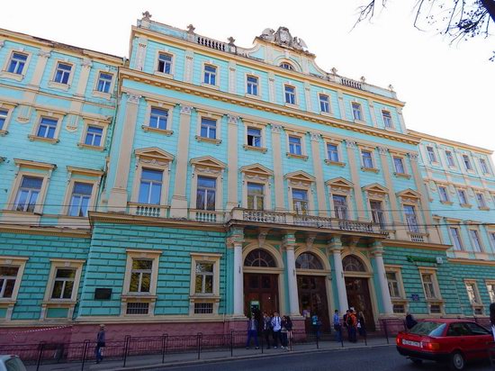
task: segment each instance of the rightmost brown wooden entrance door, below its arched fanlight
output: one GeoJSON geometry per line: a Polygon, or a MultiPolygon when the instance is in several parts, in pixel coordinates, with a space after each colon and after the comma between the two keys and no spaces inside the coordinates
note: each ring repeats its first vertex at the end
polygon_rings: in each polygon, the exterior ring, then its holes
{"type": "Polygon", "coordinates": [[[373,307],[370,299],[368,278],[346,277],[347,303],[356,314],[363,312],[366,330],[374,331],[373,307]]]}

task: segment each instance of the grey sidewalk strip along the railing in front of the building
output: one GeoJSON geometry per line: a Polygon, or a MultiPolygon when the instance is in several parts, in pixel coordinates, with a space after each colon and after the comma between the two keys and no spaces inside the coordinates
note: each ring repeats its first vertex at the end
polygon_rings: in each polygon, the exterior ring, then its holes
{"type": "MultiPolygon", "coordinates": [[[[390,345],[395,344],[395,338],[389,338],[390,345]]],[[[320,341],[319,348],[316,343],[301,343],[294,344],[293,350],[287,350],[282,348],[270,348],[270,349],[250,349],[246,348],[233,348],[232,354],[229,348],[220,349],[203,349],[198,359],[197,352],[180,352],[169,353],[165,355],[165,362],[162,363],[162,355],[147,355],[147,356],[130,356],[127,357],[126,366],[123,367],[123,359],[105,359],[101,364],[95,364],[94,358],[91,357],[85,363],[85,370],[105,370],[105,371],[117,371],[117,370],[143,370],[154,369],[157,367],[166,366],[181,366],[192,365],[197,363],[213,362],[218,360],[227,359],[239,359],[248,357],[277,357],[284,355],[287,352],[292,353],[312,353],[322,350],[338,350],[338,349],[350,349],[350,348],[374,348],[387,346],[387,340],[385,338],[371,338],[367,339],[367,345],[364,340],[360,340],[357,343],[350,343],[344,341],[344,347],[342,344],[336,341],[320,341]]],[[[28,371],[36,370],[36,365],[27,366],[28,371]]],[[[58,364],[46,364],[41,365],[42,371],[76,371],[82,369],[81,362],[71,363],[58,363],[58,364]]]]}

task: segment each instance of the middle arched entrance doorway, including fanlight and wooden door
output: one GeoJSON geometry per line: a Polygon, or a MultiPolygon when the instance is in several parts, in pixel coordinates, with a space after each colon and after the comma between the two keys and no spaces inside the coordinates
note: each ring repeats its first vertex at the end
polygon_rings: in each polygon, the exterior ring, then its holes
{"type": "Polygon", "coordinates": [[[330,329],[327,275],[321,259],[311,252],[302,252],[295,261],[299,310],[305,318],[306,331],[311,330],[311,317],[317,314],[321,330],[330,329]]]}

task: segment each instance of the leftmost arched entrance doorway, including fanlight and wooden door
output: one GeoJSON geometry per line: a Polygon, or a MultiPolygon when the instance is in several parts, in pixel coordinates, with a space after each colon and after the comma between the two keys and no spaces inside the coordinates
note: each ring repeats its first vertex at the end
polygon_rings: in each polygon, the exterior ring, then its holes
{"type": "Polygon", "coordinates": [[[266,249],[253,249],[244,259],[244,313],[251,314],[251,306],[259,305],[260,314],[280,312],[276,260],[266,249]]]}

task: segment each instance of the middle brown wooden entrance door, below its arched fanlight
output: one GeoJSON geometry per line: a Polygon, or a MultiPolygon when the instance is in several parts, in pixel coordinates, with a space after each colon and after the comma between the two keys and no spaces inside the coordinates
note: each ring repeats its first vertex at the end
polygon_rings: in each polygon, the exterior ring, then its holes
{"type": "Polygon", "coordinates": [[[306,316],[306,330],[311,330],[311,316],[318,314],[321,321],[321,330],[328,331],[329,302],[327,301],[327,286],[324,276],[297,276],[297,290],[299,294],[299,309],[306,316]]]}

